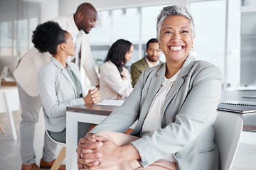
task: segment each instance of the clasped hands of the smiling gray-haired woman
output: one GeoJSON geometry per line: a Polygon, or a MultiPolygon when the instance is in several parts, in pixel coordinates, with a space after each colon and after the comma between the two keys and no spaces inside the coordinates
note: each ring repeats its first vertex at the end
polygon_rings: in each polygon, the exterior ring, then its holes
{"type": "Polygon", "coordinates": [[[119,164],[121,148],[105,137],[88,134],[78,142],[78,168],[95,170],[119,164]]]}

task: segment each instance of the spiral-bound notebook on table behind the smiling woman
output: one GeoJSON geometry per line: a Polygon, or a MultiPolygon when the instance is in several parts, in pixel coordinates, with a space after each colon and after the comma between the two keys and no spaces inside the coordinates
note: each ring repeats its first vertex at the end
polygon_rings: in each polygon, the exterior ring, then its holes
{"type": "Polygon", "coordinates": [[[230,111],[235,113],[254,113],[256,112],[255,102],[245,101],[226,101],[218,105],[218,111],[230,111]]]}

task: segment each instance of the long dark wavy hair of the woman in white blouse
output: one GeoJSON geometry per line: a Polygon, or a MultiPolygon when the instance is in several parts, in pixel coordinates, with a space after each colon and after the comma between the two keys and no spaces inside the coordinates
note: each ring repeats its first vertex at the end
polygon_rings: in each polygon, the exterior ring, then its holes
{"type": "Polygon", "coordinates": [[[125,59],[125,54],[129,52],[131,46],[132,42],[129,42],[128,40],[117,40],[116,42],[114,42],[114,44],[112,44],[110,50],[107,52],[105,62],[111,61],[121,73],[124,64],[127,62],[127,60],[125,59]]]}

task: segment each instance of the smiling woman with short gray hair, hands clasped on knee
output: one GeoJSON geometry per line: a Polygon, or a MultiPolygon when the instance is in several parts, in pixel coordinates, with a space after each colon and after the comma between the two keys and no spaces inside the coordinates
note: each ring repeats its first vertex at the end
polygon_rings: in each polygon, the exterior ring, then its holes
{"type": "Polygon", "coordinates": [[[79,169],[218,169],[220,69],[190,55],[195,30],[186,8],[163,8],[156,35],[166,63],[145,69],[122,106],[80,139],[79,169]],[[131,135],[119,133],[136,120],[131,135]]]}

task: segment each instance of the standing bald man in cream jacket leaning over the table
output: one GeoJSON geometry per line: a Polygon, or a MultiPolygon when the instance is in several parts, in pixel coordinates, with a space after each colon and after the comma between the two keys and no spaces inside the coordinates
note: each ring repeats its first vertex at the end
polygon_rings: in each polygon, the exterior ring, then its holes
{"type": "MultiPolygon", "coordinates": [[[[75,58],[70,58],[70,60],[75,60],[80,69],[81,67],[85,69],[92,86],[98,86],[99,84],[90,55],[89,35],[90,30],[95,27],[96,19],[97,11],[89,3],[80,4],[75,14],[53,19],[53,21],[59,23],[63,30],[72,35],[73,42],[76,45],[76,55],[75,58]]],[[[37,79],[39,70],[43,65],[50,62],[51,57],[49,53],[42,54],[33,47],[26,55],[21,57],[14,72],[22,109],[20,125],[22,170],[39,169],[36,165],[36,155],[33,149],[35,125],[38,122],[38,114],[42,106],[37,79]]],[[[55,142],[51,141],[45,133],[43,158],[40,162],[41,168],[46,169],[53,165],[56,147],[55,142]]],[[[60,166],[60,169],[65,169],[65,166],[60,166]]]]}

